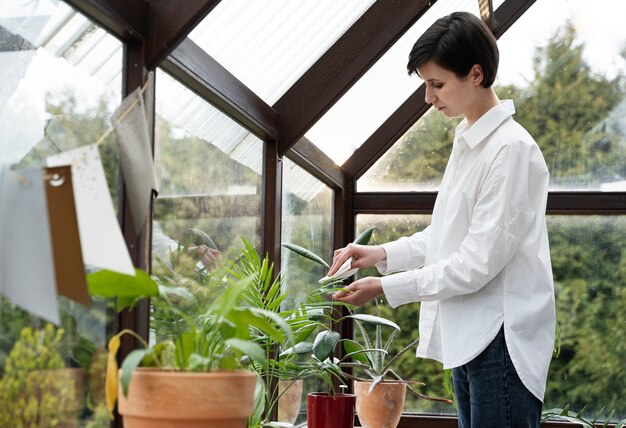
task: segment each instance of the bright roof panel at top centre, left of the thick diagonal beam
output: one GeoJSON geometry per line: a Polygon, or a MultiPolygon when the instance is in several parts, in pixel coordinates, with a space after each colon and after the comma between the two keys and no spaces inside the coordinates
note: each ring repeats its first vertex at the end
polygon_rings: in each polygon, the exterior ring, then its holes
{"type": "Polygon", "coordinates": [[[189,38],[271,105],[373,3],[223,1],[189,38]]]}

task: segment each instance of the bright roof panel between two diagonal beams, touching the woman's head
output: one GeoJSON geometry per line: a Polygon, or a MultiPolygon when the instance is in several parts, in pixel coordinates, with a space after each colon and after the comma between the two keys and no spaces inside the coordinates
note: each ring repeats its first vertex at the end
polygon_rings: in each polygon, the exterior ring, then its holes
{"type": "Polygon", "coordinates": [[[396,44],[306,133],[341,165],[420,85],[406,63],[418,37],[438,18],[465,10],[476,15],[476,0],[435,3],[396,44]]]}

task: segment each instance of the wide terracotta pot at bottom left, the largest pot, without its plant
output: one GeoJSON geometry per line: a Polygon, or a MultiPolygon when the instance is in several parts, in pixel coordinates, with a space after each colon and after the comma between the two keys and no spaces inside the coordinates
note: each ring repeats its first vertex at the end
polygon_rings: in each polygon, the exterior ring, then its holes
{"type": "Polygon", "coordinates": [[[256,373],[137,369],[128,397],[120,385],[125,428],[245,428],[254,410],[256,373]]]}

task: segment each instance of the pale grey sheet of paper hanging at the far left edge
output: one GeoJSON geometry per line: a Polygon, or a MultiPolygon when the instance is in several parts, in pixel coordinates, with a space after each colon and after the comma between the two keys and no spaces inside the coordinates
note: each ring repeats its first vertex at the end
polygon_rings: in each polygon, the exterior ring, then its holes
{"type": "Polygon", "coordinates": [[[59,324],[42,170],[4,167],[0,175],[0,290],[24,310],[59,324]]]}

